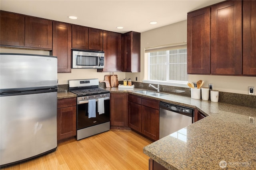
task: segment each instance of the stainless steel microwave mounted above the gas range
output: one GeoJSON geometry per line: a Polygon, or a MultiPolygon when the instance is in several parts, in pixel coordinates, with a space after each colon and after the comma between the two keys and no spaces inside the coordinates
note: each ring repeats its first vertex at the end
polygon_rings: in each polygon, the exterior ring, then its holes
{"type": "Polygon", "coordinates": [[[104,68],[104,51],[72,49],[72,68],[104,68]]]}

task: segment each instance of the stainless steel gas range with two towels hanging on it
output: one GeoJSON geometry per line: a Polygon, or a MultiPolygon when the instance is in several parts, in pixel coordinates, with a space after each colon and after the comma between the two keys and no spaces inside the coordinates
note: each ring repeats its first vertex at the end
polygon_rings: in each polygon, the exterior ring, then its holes
{"type": "Polygon", "coordinates": [[[99,80],[68,80],[68,86],[77,94],[76,139],[110,130],[110,92],[99,88],[99,80]]]}

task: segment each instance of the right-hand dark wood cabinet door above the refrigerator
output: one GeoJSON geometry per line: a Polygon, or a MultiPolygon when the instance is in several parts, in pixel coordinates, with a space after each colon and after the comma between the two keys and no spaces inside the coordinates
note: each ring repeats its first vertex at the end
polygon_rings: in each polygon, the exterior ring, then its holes
{"type": "Polygon", "coordinates": [[[25,47],[52,49],[52,21],[25,16],[25,47]]]}

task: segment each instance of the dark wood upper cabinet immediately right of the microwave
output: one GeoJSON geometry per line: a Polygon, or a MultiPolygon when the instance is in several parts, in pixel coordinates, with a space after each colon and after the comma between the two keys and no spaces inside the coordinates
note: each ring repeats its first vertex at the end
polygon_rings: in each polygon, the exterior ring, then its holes
{"type": "Polygon", "coordinates": [[[103,31],[103,51],[105,52],[105,66],[98,72],[121,71],[121,33],[103,31]]]}

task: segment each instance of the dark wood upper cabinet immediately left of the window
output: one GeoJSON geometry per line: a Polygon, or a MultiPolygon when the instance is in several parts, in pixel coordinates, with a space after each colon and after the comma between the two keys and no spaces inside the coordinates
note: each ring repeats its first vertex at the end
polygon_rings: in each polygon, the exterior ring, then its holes
{"type": "Polygon", "coordinates": [[[122,71],[140,72],[140,33],[122,34],[122,71]]]}

